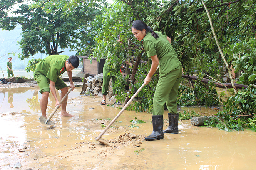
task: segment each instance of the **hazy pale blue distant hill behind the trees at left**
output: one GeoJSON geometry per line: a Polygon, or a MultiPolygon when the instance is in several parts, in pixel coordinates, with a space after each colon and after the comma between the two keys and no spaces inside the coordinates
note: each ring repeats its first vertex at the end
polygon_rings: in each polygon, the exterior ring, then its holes
{"type": "MultiPolygon", "coordinates": [[[[7,62],[8,62],[8,58],[12,57],[12,68],[13,70],[25,70],[25,68],[27,67],[27,63],[30,59],[32,58],[28,58],[25,59],[24,61],[20,61],[20,59],[18,58],[18,53],[21,53],[21,49],[20,46],[18,45],[18,41],[21,40],[21,26],[18,25],[14,30],[12,31],[3,31],[2,29],[0,29],[0,66],[3,69],[3,71],[7,70],[7,62]],[[15,55],[13,56],[11,55],[5,55],[8,53],[12,53],[14,52],[15,55]]],[[[62,54],[65,55],[74,55],[75,52],[74,51],[69,51],[69,49],[65,49],[65,52],[63,52],[62,54]]],[[[34,58],[44,58],[44,54],[36,54],[35,56],[33,56],[34,58]]],[[[47,57],[47,55],[45,55],[45,57],[47,57]]]]}

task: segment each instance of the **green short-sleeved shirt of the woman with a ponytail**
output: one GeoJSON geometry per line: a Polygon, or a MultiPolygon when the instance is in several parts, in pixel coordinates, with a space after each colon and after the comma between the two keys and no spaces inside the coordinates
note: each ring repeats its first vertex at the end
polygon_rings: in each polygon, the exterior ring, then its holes
{"type": "Polygon", "coordinates": [[[147,52],[147,56],[157,55],[159,60],[159,75],[165,75],[181,65],[176,52],[171,43],[167,40],[166,35],[161,32],[154,31],[158,34],[158,38],[154,38],[150,32],[146,34],[142,45],[147,52]]]}

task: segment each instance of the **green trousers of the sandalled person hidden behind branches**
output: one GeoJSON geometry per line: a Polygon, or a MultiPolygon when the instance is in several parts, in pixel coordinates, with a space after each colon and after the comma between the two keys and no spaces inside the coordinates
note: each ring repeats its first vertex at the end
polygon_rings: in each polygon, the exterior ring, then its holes
{"type": "MultiPolygon", "coordinates": [[[[115,76],[107,75],[111,71],[111,68],[108,68],[107,64],[104,64],[103,67],[103,83],[102,83],[102,94],[107,95],[108,94],[108,89],[109,89],[109,81],[110,78],[112,79],[112,85],[115,83],[116,78],[115,76]]],[[[118,72],[118,71],[117,71],[118,72]]],[[[115,91],[113,89],[113,94],[115,94],[115,91]]]]}

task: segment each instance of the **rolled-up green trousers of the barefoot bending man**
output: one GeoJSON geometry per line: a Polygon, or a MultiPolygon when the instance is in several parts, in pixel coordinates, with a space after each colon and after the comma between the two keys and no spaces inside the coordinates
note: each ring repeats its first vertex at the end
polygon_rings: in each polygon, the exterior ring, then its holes
{"type": "MultiPolygon", "coordinates": [[[[40,73],[37,69],[35,69],[35,72],[34,72],[34,79],[35,81],[37,81],[41,94],[47,91],[50,92],[50,87],[49,87],[50,79],[48,79],[44,74],[40,73]]],[[[55,82],[55,88],[57,90],[60,90],[65,87],[67,87],[67,84],[65,84],[64,81],[58,77],[55,82]]]]}

